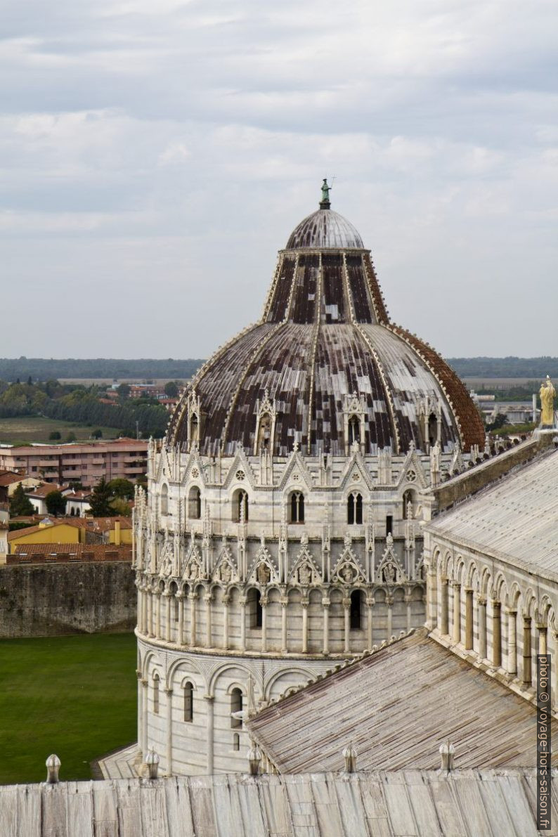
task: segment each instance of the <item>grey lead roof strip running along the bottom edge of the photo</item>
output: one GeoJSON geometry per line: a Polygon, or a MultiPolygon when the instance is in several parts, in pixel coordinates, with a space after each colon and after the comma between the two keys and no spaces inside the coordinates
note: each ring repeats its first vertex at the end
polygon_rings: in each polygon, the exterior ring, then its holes
{"type": "Polygon", "coordinates": [[[406,770],[4,785],[0,828],[3,837],[535,837],[535,781],[534,770],[406,770]]]}

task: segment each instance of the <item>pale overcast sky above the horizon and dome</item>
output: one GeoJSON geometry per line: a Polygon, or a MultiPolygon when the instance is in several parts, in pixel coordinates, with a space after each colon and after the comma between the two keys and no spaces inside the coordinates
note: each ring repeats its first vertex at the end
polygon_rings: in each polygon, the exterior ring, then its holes
{"type": "Polygon", "coordinates": [[[332,208],[446,357],[558,355],[558,4],[3,0],[3,357],[207,357],[332,208]]]}

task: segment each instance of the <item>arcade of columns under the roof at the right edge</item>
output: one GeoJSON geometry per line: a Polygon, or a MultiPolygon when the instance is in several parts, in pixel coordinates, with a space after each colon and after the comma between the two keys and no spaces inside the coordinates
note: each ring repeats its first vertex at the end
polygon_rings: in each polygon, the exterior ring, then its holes
{"type": "MultiPolygon", "coordinates": [[[[511,689],[535,695],[536,655],[553,650],[558,584],[513,564],[457,548],[426,528],[427,628],[454,652],[474,661],[511,689]]],[[[558,670],[552,672],[556,711],[558,670]]]]}

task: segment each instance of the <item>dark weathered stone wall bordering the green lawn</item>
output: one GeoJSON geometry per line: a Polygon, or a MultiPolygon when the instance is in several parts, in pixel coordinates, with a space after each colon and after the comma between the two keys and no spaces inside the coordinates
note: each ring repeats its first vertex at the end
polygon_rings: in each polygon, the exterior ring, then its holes
{"type": "Polygon", "coordinates": [[[131,631],[135,625],[128,562],[0,567],[0,638],[131,631]]]}

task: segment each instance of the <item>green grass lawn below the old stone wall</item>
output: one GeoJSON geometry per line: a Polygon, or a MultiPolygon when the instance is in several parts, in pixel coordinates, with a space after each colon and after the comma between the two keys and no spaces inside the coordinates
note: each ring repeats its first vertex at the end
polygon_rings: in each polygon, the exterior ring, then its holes
{"type": "Polygon", "coordinates": [[[0,783],[91,778],[90,762],[136,741],[136,637],[0,640],[0,783]]]}

